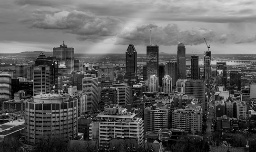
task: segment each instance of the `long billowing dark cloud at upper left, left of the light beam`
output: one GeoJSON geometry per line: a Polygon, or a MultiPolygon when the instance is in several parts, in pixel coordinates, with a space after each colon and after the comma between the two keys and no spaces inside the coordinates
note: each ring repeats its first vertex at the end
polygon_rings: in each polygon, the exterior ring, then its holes
{"type": "Polygon", "coordinates": [[[114,17],[97,17],[82,11],[35,11],[29,18],[20,20],[31,28],[59,29],[78,36],[79,40],[98,42],[116,36],[123,22],[114,17]]]}

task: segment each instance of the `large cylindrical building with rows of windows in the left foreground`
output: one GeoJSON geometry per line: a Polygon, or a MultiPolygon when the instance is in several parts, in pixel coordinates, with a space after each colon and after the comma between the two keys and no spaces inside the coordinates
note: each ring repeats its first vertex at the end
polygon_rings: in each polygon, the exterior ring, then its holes
{"type": "Polygon", "coordinates": [[[25,102],[25,140],[28,144],[37,144],[49,135],[67,142],[74,140],[78,137],[77,124],[78,101],[68,94],[41,94],[25,102]]]}

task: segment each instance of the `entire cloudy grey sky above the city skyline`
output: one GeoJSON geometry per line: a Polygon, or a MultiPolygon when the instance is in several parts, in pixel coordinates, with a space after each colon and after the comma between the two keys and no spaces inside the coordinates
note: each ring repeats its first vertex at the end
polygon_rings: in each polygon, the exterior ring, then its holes
{"type": "Polygon", "coordinates": [[[125,53],[133,44],[159,52],[255,54],[255,0],[0,0],[0,53],[125,53]]]}

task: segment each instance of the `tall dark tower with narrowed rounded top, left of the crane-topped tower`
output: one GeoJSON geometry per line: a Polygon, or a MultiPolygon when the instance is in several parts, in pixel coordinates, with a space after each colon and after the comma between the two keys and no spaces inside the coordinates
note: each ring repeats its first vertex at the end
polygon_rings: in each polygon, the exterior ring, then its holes
{"type": "Polygon", "coordinates": [[[177,49],[177,79],[187,79],[186,48],[183,43],[179,43],[177,49]]]}

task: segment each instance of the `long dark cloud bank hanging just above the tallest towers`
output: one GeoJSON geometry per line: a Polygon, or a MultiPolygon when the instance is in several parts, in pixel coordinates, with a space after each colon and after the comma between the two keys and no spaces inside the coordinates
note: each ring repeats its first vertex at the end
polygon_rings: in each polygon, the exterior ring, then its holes
{"type": "Polygon", "coordinates": [[[178,41],[184,45],[199,45],[207,41],[215,41],[215,32],[206,28],[193,28],[181,31],[176,24],[168,24],[166,27],[157,27],[148,24],[138,26],[132,30],[123,30],[117,35],[116,45],[149,45],[150,29],[152,29],[152,44],[157,45],[177,45],[178,41]],[[154,29],[152,29],[154,28],[154,29]]]}

